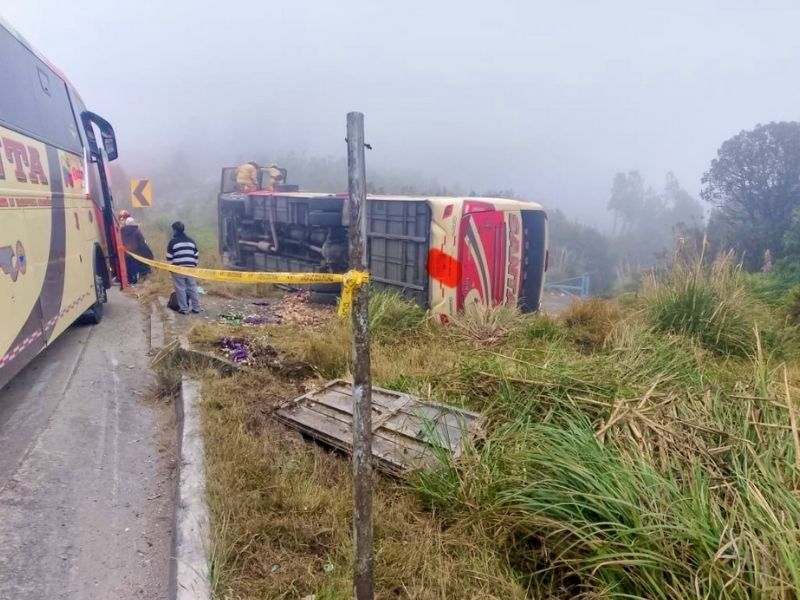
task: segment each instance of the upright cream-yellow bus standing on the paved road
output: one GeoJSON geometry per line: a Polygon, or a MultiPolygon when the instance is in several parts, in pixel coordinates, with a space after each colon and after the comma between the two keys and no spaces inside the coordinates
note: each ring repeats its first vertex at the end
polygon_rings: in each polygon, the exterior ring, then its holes
{"type": "Polygon", "coordinates": [[[76,319],[98,323],[124,267],[111,125],[2,20],[0,82],[2,388],[76,319]]]}

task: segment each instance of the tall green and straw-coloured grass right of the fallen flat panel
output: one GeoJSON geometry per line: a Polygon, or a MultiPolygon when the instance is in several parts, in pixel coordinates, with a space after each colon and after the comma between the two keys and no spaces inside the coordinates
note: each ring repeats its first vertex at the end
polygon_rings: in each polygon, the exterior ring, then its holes
{"type": "Polygon", "coordinates": [[[613,310],[462,356],[447,385],[486,439],[412,485],[489,535],[533,597],[798,597],[796,388],[777,360],[794,355],[775,352],[774,316],[730,257],[613,310]]]}

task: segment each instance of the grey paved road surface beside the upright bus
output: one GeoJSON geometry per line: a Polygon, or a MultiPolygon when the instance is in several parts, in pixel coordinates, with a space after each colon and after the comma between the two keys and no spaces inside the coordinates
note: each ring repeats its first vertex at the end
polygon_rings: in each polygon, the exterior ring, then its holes
{"type": "Polygon", "coordinates": [[[148,332],[112,293],[0,390],[0,600],[167,597],[174,432],[148,332]]]}

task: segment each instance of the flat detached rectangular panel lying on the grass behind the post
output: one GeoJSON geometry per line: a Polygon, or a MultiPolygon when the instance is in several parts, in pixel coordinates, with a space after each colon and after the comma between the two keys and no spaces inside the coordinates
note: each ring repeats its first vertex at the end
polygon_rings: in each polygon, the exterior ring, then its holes
{"type": "MultiPolygon", "coordinates": [[[[278,405],[275,418],[329,446],[347,452],[353,445],[353,386],[337,379],[321,390],[278,405]]],[[[458,459],[465,438],[482,433],[483,418],[454,406],[372,388],[372,454],[391,475],[435,467],[437,455],[458,459]]]]}

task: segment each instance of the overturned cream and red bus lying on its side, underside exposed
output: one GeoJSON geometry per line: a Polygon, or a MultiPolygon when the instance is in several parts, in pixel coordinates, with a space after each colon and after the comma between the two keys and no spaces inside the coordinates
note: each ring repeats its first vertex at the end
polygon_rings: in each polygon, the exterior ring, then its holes
{"type": "MultiPolygon", "coordinates": [[[[220,253],[236,269],[341,273],[348,268],[346,195],[236,191],[222,173],[220,253]]],[[[367,258],[373,285],[397,291],[442,321],[465,306],[535,311],[547,269],[547,216],[532,202],[501,198],[367,196],[367,258]]],[[[334,303],[338,284],[311,286],[334,303]]]]}

